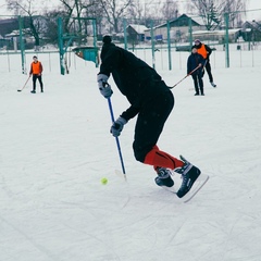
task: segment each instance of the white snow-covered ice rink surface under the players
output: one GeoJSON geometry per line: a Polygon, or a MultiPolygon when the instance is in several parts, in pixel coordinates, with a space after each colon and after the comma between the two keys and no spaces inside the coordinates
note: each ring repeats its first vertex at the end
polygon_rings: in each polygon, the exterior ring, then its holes
{"type": "MultiPolygon", "coordinates": [[[[175,70],[158,66],[169,85],[186,74],[188,53],[177,55],[175,70]]],[[[210,175],[183,203],[135,161],[135,120],[120,137],[127,182],[115,175],[121,163],[94,63],[72,57],[71,73],[61,76],[54,54],[38,57],[45,92],[37,85],[36,95],[30,80],[16,91],[28,77],[20,57],[10,58],[11,72],[0,57],[1,261],[260,261],[261,66],[225,69],[216,51],[217,88],[204,77],[206,96],[195,97],[188,77],[173,89],[175,108],[158,145],[210,175]]],[[[128,103],[110,83],[117,116],[128,103]]]]}

